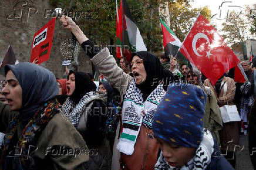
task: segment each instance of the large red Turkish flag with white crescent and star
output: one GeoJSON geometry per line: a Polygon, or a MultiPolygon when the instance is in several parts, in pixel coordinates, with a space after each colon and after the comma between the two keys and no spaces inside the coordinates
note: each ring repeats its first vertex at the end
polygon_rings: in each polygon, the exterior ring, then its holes
{"type": "Polygon", "coordinates": [[[214,84],[240,60],[224,42],[217,30],[200,15],[194,23],[180,52],[214,84]]]}

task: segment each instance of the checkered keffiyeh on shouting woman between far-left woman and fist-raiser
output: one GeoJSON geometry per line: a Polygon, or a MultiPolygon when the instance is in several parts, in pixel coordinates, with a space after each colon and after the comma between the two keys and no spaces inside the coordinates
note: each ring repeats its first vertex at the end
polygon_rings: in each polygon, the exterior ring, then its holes
{"type": "Polygon", "coordinates": [[[95,96],[97,96],[98,93],[96,91],[90,91],[85,94],[81,98],[78,104],[76,104],[74,101],[72,101],[70,98],[67,98],[65,103],[62,106],[62,113],[66,115],[66,117],[69,118],[70,122],[77,127],[79,124],[80,117],[82,115],[82,112],[86,106],[87,101],[91,100],[95,96]]]}

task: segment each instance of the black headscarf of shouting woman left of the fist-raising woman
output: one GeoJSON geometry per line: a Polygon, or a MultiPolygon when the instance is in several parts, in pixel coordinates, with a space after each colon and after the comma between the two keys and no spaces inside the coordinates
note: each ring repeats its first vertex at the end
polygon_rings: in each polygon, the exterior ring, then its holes
{"type": "Polygon", "coordinates": [[[69,98],[73,102],[79,103],[81,98],[85,96],[86,93],[96,90],[96,85],[90,79],[90,76],[88,74],[84,72],[75,72],[73,70],[70,70],[69,76],[72,73],[75,74],[76,88],[69,98]]]}

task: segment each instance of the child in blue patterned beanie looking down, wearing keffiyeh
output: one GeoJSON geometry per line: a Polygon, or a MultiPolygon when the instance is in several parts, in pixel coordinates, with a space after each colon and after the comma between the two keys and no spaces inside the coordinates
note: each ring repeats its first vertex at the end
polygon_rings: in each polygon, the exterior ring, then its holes
{"type": "Polygon", "coordinates": [[[155,169],[233,169],[203,128],[206,94],[192,84],[173,84],[153,118],[161,153],[155,169]]]}

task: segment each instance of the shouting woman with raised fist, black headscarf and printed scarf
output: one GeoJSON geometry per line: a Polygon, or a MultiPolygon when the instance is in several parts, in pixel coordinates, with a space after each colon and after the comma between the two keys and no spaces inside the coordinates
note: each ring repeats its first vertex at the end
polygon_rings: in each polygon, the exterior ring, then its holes
{"type": "Polygon", "coordinates": [[[153,169],[159,145],[153,137],[152,118],[166,93],[164,87],[174,80],[173,74],[164,70],[152,53],[136,52],[130,62],[131,77],[117,66],[109,49],[99,52],[71,18],[62,16],[60,22],[76,36],[95,67],[120,92],[123,101],[122,132],[117,129],[112,169],[153,169]]]}

